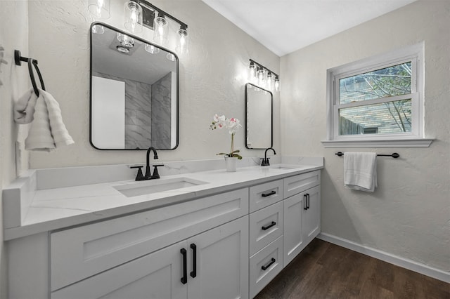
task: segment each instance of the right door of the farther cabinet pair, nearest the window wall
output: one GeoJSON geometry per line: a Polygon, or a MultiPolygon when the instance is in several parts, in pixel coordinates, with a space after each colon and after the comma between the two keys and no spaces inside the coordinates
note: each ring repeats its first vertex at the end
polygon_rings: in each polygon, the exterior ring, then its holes
{"type": "Polygon", "coordinates": [[[304,210],[305,244],[309,244],[321,231],[321,188],[316,186],[304,192],[307,196],[307,210],[304,210]]]}

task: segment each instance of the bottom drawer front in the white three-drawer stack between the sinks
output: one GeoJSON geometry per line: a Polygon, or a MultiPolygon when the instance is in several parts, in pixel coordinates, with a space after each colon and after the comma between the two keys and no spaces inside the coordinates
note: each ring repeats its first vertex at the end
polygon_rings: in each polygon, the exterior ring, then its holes
{"type": "Polygon", "coordinates": [[[278,237],[250,258],[250,298],[283,269],[283,236],[278,237]]]}

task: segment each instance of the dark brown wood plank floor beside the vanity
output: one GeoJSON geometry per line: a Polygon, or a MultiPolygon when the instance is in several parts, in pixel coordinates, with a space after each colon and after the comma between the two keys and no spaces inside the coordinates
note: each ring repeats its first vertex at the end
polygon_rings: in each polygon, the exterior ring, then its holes
{"type": "Polygon", "coordinates": [[[314,239],[256,299],[450,299],[450,284],[314,239]]]}

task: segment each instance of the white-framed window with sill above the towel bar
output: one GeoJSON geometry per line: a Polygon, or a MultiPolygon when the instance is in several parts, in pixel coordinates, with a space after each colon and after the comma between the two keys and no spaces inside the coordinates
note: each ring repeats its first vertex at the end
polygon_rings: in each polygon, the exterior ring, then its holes
{"type": "Polygon", "coordinates": [[[405,140],[425,140],[423,44],[328,69],[327,84],[325,146],[406,146],[405,140]]]}

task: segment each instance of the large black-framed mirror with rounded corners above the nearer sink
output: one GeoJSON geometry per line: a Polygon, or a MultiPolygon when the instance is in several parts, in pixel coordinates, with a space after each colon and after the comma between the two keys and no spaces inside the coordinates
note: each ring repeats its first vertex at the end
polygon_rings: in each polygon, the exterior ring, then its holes
{"type": "Polygon", "coordinates": [[[91,25],[91,145],[98,150],[174,150],[179,61],[148,41],[91,25]]]}

